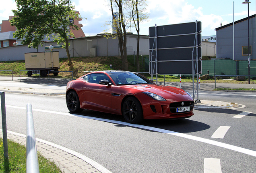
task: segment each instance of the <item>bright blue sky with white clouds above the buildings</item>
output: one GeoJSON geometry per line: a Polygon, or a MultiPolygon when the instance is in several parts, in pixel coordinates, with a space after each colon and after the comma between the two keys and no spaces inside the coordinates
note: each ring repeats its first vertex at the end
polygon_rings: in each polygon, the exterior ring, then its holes
{"type": "MultiPolygon", "coordinates": [[[[109,0],[71,0],[83,18],[85,36],[94,36],[110,28],[109,0]],[[87,18],[87,19],[86,19],[87,18]]],[[[216,35],[215,28],[248,17],[244,0],[146,0],[149,20],[140,23],[140,34],[149,35],[149,27],[201,21],[202,36],[216,35]],[[233,5],[234,4],[234,5],[233,5]],[[233,8],[234,6],[234,8],[233,8]],[[234,12],[233,12],[234,9],[234,12]]],[[[250,0],[249,15],[255,14],[256,0],[250,0]]],[[[0,0],[0,23],[17,9],[15,0],[0,0]]],[[[128,30],[130,32],[130,29],[128,30]]],[[[136,30],[132,29],[136,34],[136,30]]]]}

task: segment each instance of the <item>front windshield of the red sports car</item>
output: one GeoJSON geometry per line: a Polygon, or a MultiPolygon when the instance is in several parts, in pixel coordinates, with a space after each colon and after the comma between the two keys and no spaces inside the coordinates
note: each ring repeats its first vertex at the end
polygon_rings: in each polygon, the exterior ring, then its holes
{"type": "Polygon", "coordinates": [[[154,84],[149,79],[133,72],[109,72],[116,85],[154,84]]]}

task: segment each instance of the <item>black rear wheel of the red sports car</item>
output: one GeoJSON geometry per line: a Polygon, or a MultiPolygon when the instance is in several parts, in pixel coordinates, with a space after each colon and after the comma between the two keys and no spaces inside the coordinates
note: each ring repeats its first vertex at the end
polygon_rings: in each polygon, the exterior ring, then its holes
{"type": "Polygon", "coordinates": [[[79,98],[75,91],[70,91],[68,93],[66,103],[68,110],[72,113],[78,113],[83,111],[83,109],[80,108],[79,98]]]}

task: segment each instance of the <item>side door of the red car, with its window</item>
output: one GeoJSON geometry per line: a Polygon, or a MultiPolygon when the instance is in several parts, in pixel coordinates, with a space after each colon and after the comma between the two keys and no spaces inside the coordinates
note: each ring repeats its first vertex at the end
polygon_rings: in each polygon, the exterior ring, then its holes
{"type": "Polygon", "coordinates": [[[111,109],[111,86],[99,84],[102,79],[109,80],[102,73],[91,74],[89,82],[83,86],[83,94],[88,105],[111,109]]]}

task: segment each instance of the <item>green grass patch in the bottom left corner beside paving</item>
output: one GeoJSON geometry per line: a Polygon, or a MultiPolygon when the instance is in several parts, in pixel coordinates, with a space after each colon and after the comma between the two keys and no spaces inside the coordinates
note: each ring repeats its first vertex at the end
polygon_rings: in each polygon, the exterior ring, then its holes
{"type": "MultiPolygon", "coordinates": [[[[40,173],[61,173],[56,165],[43,157],[39,152],[38,163],[40,173]]],[[[8,140],[8,158],[10,173],[26,173],[26,147],[8,140]]],[[[4,147],[0,138],[0,172],[4,173],[4,147]]]]}

